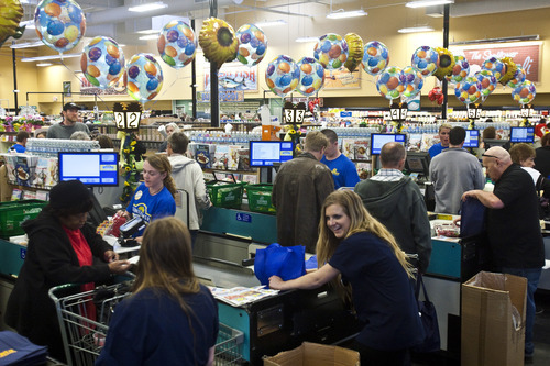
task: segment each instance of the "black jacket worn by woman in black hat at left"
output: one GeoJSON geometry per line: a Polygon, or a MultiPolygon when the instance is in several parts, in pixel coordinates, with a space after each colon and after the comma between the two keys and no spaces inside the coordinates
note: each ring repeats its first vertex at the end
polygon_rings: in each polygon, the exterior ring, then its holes
{"type": "Polygon", "coordinates": [[[22,225],[29,235],[25,262],[11,292],[6,323],[50,354],[65,359],[55,304],[48,290],[68,282],[94,282],[110,278],[109,266],[99,260],[110,246],[94,228],[81,229],[94,255],[95,265],[80,267],[78,257],[58,220],[44,209],[36,219],[22,225]],[[96,264],[97,262],[97,264],[96,264]]]}

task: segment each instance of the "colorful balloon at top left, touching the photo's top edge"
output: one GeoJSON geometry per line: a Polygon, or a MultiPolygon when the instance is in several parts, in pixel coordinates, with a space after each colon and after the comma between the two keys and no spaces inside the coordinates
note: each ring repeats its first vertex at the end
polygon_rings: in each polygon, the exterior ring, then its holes
{"type": "Polygon", "coordinates": [[[86,33],[86,16],[73,0],[42,0],[34,12],[40,40],[59,53],[73,49],[86,33]]]}

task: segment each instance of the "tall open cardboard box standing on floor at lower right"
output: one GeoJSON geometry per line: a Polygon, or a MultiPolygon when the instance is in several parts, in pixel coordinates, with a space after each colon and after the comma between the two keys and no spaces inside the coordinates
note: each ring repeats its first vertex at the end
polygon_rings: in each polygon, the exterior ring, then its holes
{"type": "Polygon", "coordinates": [[[462,284],[461,364],[524,365],[527,279],[481,271],[462,284]]]}

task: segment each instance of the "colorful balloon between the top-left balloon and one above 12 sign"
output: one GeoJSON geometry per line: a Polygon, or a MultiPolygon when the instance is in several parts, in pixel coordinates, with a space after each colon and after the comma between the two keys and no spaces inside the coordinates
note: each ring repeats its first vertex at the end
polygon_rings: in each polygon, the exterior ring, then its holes
{"type": "Polygon", "coordinates": [[[80,68],[91,85],[107,89],[124,75],[124,54],[119,44],[109,37],[94,37],[84,47],[80,68]]]}

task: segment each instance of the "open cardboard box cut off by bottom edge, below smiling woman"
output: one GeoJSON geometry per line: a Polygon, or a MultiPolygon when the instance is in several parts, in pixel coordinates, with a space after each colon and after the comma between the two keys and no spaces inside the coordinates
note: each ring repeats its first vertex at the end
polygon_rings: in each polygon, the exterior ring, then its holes
{"type": "Polygon", "coordinates": [[[299,347],[264,358],[264,366],[359,366],[359,352],[304,342],[299,347]]]}

